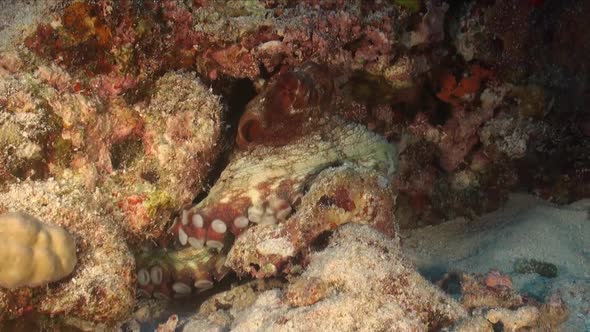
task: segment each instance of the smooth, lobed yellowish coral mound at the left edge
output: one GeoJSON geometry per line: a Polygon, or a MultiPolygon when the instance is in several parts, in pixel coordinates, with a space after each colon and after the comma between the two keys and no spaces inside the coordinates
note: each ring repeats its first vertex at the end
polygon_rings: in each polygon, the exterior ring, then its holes
{"type": "Polygon", "coordinates": [[[0,286],[15,289],[57,281],[72,273],[78,261],[73,237],[22,213],[0,216],[0,286]],[[14,257],[19,259],[13,260],[14,257]]]}

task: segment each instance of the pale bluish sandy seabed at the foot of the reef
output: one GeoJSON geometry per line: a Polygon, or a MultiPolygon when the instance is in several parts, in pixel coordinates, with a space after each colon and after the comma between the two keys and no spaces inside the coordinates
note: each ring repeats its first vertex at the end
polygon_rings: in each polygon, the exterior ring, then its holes
{"type": "Polygon", "coordinates": [[[431,279],[448,271],[507,273],[520,293],[557,292],[570,310],[563,331],[590,330],[590,200],[555,206],[514,194],[501,209],[473,221],[456,219],[408,232],[404,253],[431,279]],[[557,277],[514,271],[529,259],[557,266],[557,277]]]}

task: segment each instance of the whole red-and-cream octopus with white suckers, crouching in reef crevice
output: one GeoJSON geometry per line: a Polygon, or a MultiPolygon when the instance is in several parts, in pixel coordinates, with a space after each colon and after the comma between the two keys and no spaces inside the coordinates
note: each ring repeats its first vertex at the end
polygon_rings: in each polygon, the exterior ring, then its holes
{"type": "Polygon", "coordinates": [[[295,272],[316,239],[346,223],[396,235],[396,147],[331,113],[331,85],[309,64],[278,75],[248,104],[239,150],[208,195],[179,212],[173,245],[137,256],[141,294],[189,296],[229,271],[295,272]]]}

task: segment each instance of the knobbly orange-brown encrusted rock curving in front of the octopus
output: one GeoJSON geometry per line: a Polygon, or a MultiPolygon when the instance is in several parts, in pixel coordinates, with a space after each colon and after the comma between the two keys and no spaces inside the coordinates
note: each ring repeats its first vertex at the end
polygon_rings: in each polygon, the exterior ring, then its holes
{"type": "Polygon", "coordinates": [[[346,163],[322,171],[297,211],[283,223],[249,228],[236,239],[226,265],[239,275],[270,277],[293,268],[294,258],[324,232],[347,223],[369,224],[391,237],[394,195],[374,169],[346,163]]]}

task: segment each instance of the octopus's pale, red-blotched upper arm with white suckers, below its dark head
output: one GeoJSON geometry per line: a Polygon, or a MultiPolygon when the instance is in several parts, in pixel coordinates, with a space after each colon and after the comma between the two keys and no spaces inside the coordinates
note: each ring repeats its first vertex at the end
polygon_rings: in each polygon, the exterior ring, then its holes
{"type": "Polygon", "coordinates": [[[238,153],[209,195],[181,213],[171,230],[181,245],[221,250],[252,223],[276,224],[297,208],[306,187],[324,169],[350,163],[395,170],[395,147],[366,128],[331,118],[288,145],[238,153]]]}

